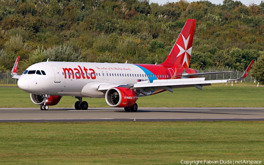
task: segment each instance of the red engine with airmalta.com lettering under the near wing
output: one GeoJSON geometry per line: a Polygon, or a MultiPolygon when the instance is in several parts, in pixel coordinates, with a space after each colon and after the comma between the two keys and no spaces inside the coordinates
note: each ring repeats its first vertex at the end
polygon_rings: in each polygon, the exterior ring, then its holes
{"type": "Polygon", "coordinates": [[[114,87],[106,91],[105,100],[109,106],[126,108],[136,103],[137,95],[132,89],[114,87]]]}

